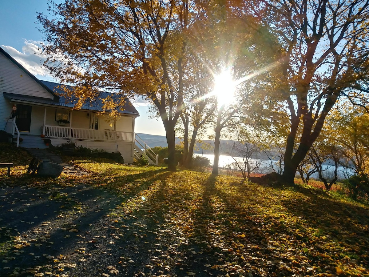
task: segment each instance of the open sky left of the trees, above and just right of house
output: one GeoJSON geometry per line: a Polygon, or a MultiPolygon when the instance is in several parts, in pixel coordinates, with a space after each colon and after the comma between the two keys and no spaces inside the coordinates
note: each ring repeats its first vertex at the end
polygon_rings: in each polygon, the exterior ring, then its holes
{"type": "MultiPolygon", "coordinates": [[[[48,14],[46,0],[0,0],[0,47],[15,58],[37,78],[56,81],[41,67],[42,57],[35,54],[42,35],[38,28],[36,13],[48,14]]],[[[134,103],[140,113],[135,122],[136,133],[165,136],[161,120],[149,119],[148,107],[134,103]]]]}

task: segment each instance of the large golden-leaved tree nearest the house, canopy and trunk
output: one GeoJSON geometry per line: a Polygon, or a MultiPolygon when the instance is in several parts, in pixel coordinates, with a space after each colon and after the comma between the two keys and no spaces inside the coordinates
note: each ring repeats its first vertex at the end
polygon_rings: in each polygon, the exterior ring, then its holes
{"type": "Polygon", "coordinates": [[[201,7],[194,1],[70,0],[52,3],[49,11],[53,19],[38,14],[49,71],[80,86],[80,101],[101,89],[149,99],[163,121],[169,168],[175,170],[174,127],[183,108],[189,29],[201,7]]]}

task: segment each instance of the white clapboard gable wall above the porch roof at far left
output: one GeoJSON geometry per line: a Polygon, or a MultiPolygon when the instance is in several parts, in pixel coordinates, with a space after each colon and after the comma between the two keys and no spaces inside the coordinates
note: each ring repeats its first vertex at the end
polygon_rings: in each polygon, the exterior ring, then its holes
{"type": "Polygon", "coordinates": [[[0,92],[37,96],[52,99],[53,96],[35,82],[23,70],[0,53],[0,92]]]}

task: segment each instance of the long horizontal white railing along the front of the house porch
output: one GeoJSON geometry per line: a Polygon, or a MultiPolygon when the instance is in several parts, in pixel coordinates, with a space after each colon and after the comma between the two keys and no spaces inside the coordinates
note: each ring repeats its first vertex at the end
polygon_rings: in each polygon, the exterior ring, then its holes
{"type": "Polygon", "coordinates": [[[133,141],[132,132],[45,126],[45,137],[75,140],[133,141]]]}

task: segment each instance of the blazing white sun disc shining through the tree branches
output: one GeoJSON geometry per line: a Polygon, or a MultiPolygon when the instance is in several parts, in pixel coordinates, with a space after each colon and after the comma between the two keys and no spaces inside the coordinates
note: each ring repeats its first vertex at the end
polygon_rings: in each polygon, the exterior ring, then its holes
{"type": "Polygon", "coordinates": [[[223,70],[214,77],[214,95],[217,96],[217,106],[227,106],[234,100],[236,84],[230,69],[223,70]]]}

